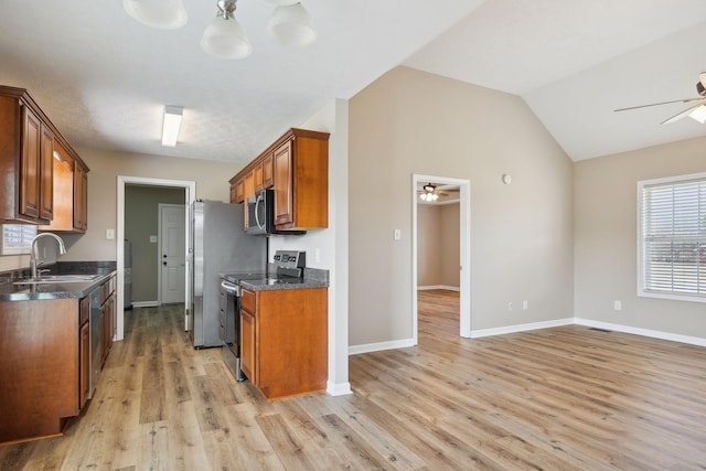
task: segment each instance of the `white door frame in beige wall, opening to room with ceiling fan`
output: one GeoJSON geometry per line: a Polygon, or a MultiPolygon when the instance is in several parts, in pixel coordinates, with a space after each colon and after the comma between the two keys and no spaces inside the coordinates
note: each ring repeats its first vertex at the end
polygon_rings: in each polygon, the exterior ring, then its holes
{"type": "MultiPolygon", "coordinates": [[[[413,175],[413,259],[411,259],[411,293],[413,293],[413,322],[414,322],[414,342],[418,342],[418,259],[417,250],[419,244],[418,234],[418,207],[420,203],[419,189],[429,182],[434,182],[436,186],[442,185],[458,188],[459,204],[459,335],[463,338],[471,336],[471,183],[469,180],[450,179],[436,175],[413,175]]],[[[430,190],[430,189],[429,189],[430,190]]],[[[436,189],[435,189],[436,190],[436,189]]],[[[424,192],[424,191],[422,191],[424,192]]]]}

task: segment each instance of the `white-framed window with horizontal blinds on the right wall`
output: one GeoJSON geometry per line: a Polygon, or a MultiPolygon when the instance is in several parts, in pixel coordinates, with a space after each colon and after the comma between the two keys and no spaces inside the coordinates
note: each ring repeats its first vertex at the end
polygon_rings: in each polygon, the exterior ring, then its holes
{"type": "Polygon", "coordinates": [[[706,173],[638,183],[638,296],[706,302],[706,173]]]}

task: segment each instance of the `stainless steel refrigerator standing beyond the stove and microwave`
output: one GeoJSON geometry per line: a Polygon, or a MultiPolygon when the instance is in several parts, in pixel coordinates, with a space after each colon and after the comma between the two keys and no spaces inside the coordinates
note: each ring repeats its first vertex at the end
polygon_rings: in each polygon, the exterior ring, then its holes
{"type": "Polygon", "coordinates": [[[245,234],[242,204],[196,201],[191,210],[193,269],[189,334],[197,349],[222,346],[220,274],[265,272],[267,238],[245,234]]]}

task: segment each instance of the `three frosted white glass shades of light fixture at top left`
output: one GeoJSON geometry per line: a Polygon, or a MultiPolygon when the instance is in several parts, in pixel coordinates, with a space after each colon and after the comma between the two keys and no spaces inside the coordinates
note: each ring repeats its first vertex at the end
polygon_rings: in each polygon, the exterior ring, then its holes
{"type": "MultiPolygon", "coordinates": [[[[280,45],[300,47],[317,39],[309,12],[299,0],[266,0],[277,7],[268,23],[269,34],[280,45]]],[[[201,38],[201,49],[220,58],[245,58],[253,52],[245,29],[235,19],[236,0],[216,1],[218,12],[201,38]]],[[[163,30],[186,24],[182,0],[122,0],[125,11],[138,22],[163,30]]]]}

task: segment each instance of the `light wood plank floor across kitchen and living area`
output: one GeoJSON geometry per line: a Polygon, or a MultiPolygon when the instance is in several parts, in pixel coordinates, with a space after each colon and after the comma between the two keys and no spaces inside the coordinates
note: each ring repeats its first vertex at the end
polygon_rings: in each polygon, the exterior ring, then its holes
{"type": "Polygon", "coordinates": [[[0,470],[706,469],[706,349],[582,327],[467,340],[458,293],[419,302],[419,345],[352,356],[353,395],[269,403],[189,345],[180,309],[127,311],[79,420],[0,447],[0,470]]]}

